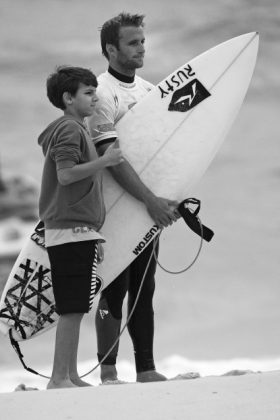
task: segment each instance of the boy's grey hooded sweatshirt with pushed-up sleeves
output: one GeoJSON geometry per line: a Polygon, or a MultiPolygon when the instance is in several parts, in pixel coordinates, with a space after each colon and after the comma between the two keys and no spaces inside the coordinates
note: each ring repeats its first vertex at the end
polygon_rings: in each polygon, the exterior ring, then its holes
{"type": "Polygon", "coordinates": [[[60,117],[42,132],[38,143],[45,156],[39,215],[46,229],[100,230],[105,219],[101,172],[68,185],[61,185],[57,177],[59,169],[98,158],[84,125],[74,117],[60,117]]]}

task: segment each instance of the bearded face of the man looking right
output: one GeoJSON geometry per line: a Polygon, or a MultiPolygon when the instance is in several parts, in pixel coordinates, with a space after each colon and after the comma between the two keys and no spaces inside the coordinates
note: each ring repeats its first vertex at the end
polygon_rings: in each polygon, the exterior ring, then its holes
{"type": "Polygon", "coordinates": [[[120,68],[135,70],[143,66],[145,37],[142,27],[120,28],[119,49],[115,49],[115,62],[120,68]]]}

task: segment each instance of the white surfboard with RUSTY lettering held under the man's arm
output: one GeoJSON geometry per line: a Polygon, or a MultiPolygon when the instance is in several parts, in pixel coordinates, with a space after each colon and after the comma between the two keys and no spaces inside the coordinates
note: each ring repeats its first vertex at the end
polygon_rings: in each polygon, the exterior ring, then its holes
{"type": "MultiPolygon", "coordinates": [[[[117,124],[120,147],[141,180],[158,196],[182,201],[202,177],[226,137],[255,67],[258,34],[216,46],[174,71],[117,124]]],[[[105,260],[96,295],[158,234],[145,206],[104,176],[105,260]]],[[[0,302],[0,330],[16,340],[55,325],[50,266],[40,229],[28,238],[0,302]],[[41,244],[41,245],[40,245],[41,244]]]]}

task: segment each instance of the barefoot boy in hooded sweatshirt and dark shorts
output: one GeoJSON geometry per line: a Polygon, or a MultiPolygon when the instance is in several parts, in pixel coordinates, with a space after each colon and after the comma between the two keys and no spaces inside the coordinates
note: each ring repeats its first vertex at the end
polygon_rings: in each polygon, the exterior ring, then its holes
{"type": "Polygon", "coordinates": [[[83,125],[98,100],[96,87],[95,75],[79,67],[58,67],[47,80],[49,100],[64,113],[38,139],[45,156],[39,215],[60,315],[47,389],[89,385],[78,376],[77,351],[103,240],[98,233],[105,218],[101,170],[122,161],[121,151],[112,147],[98,158],[83,125]]]}

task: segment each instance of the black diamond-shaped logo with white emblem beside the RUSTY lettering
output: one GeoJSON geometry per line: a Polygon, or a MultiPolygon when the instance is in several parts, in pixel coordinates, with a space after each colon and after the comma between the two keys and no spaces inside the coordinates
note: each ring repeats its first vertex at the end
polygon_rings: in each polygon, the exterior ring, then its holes
{"type": "Polygon", "coordinates": [[[211,96],[211,94],[202,83],[199,80],[194,79],[173,93],[168,110],[186,112],[209,96],[211,96]]]}

